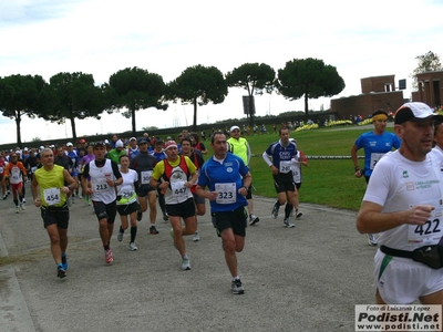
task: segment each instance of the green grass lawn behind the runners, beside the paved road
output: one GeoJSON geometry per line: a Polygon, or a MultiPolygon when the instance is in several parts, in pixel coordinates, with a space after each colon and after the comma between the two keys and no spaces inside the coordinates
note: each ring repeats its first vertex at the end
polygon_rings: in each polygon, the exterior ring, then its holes
{"type": "MultiPolygon", "coordinates": [[[[297,139],[297,146],[309,156],[350,156],[357,137],[372,129],[371,126],[349,126],[319,128],[292,132],[290,137],[297,139]]],[[[388,131],[392,132],[392,123],[388,131]]],[[[269,167],[261,158],[264,151],[278,141],[277,134],[247,136],[255,157],[251,159],[254,195],[277,197],[269,167]]],[[[209,142],[205,142],[210,152],[209,142]]],[[[359,151],[363,156],[363,151],[359,151]]],[[[360,159],[360,167],[363,159],[360,159]]],[[[348,159],[309,159],[309,167],[302,168],[300,201],[326,205],[334,208],[357,210],[364,195],[364,178],[356,178],[353,164],[348,159]]]]}

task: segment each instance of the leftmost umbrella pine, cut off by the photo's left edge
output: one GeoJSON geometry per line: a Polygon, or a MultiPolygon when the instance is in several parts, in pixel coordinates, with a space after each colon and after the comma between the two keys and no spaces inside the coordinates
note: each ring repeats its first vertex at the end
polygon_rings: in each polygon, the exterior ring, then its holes
{"type": "Polygon", "coordinates": [[[3,116],[16,121],[17,145],[20,147],[22,116],[33,118],[41,112],[47,85],[48,83],[39,75],[11,75],[0,79],[0,112],[3,116]]]}

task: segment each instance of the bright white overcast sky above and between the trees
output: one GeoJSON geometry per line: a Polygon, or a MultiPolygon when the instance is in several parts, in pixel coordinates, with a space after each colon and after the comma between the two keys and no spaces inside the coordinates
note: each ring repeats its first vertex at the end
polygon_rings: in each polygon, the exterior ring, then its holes
{"type": "MultiPolygon", "coordinates": [[[[125,68],[138,66],[165,83],[186,68],[214,65],[223,73],[247,62],[278,71],[287,61],[317,58],[337,68],[346,82],[340,95],[361,92],[360,79],[406,79],[415,58],[432,51],[443,59],[443,2],[401,0],[203,1],[203,0],[4,0],[0,2],[0,76],[60,72],[93,74],[99,85],[125,68]]],[[[198,123],[243,117],[240,89],[225,102],[199,107],[198,123]]],[[[404,92],[410,97],[411,90],[404,92]]],[[[330,98],[310,100],[328,108],[330,98]]],[[[257,115],[302,111],[303,102],[277,94],[256,97],[257,115]]],[[[192,125],[193,108],[136,113],[147,126],[192,125]]],[[[76,121],[81,135],[131,131],[121,114],[76,121]]],[[[23,118],[22,142],[71,137],[70,125],[23,118]]],[[[0,116],[0,143],[16,142],[16,123],[0,116]]]]}

